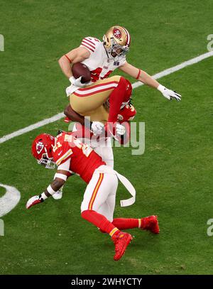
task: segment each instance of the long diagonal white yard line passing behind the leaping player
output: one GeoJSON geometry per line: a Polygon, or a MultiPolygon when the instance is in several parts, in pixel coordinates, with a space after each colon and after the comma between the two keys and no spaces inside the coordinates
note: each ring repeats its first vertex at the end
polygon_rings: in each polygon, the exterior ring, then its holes
{"type": "MultiPolygon", "coordinates": [[[[197,58],[192,58],[190,60],[187,60],[185,62],[180,63],[180,65],[176,65],[174,67],[170,67],[167,70],[163,70],[155,75],[153,75],[153,78],[155,80],[158,80],[160,77],[164,77],[165,75],[170,75],[173,72],[176,72],[178,70],[181,70],[184,67],[187,67],[189,65],[195,64],[197,62],[200,62],[206,58],[209,58],[213,56],[213,51],[210,51],[208,53],[204,53],[200,56],[197,56],[197,58]]],[[[143,85],[142,82],[135,82],[133,83],[133,88],[137,88],[143,85]]],[[[13,133],[9,133],[6,136],[2,136],[0,138],[0,143],[4,143],[5,141],[9,141],[11,138],[15,138],[16,136],[21,136],[23,133],[28,133],[28,131],[33,131],[33,129],[38,129],[41,126],[45,126],[46,124],[51,124],[54,121],[58,121],[59,119],[62,119],[65,115],[63,112],[60,114],[55,114],[55,116],[50,117],[50,119],[44,119],[43,121],[38,121],[36,124],[31,124],[31,126],[26,126],[23,129],[18,129],[18,131],[14,131],[13,133]]]]}

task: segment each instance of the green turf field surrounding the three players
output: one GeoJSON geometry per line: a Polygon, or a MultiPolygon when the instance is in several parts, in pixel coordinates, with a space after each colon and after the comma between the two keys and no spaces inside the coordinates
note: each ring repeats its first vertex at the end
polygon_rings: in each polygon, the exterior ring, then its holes
{"type": "MultiPolygon", "coordinates": [[[[207,52],[212,9],[212,0],[1,0],[0,138],[64,109],[69,82],[58,58],[85,36],[101,39],[110,26],[125,26],[132,37],[129,62],[153,75],[207,52]]],[[[136,121],[146,122],[146,150],[132,156],[131,148],[114,148],[115,169],[137,191],[136,203],[121,208],[119,200],[128,195],[119,186],[115,217],[158,214],[160,235],[131,230],[135,238],[117,263],[109,236],[80,217],[86,185],[77,176],[68,180],[62,200],[25,209],[53,178],[31,156],[33,138],[67,124],[56,121],[0,144],[0,182],[21,192],[15,209],[1,217],[0,274],[213,273],[213,236],[207,236],[213,218],[212,60],[159,80],[180,92],[182,102],[168,102],[145,86],[133,92],[136,121]]]]}

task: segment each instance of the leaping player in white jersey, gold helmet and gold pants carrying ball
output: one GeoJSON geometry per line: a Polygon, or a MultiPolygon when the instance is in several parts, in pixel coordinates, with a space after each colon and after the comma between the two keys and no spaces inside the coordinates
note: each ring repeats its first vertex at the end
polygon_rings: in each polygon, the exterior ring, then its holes
{"type": "MultiPolygon", "coordinates": [[[[116,68],[144,84],[158,89],[167,99],[177,99],[178,101],[181,99],[180,94],[163,87],[146,72],[126,61],[126,53],[129,52],[130,44],[131,36],[126,28],[113,26],[104,35],[102,42],[97,38],[86,37],[78,48],[71,50],[60,58],[59,65],[62,72],[71,82],[70,87],[67,89],[67,94],[70,96],[72,109],[77,111],[77,113],[84,114],[85,110],[97,109],[108,97],[111,102],[116,98],[115,103],[122,103],[123,99],[120,96],[122,94],[120,90],[125,87],[124,83],[123,85],[121,83],[124,82],[124,77],[109,77],[116,68]],[[71,65],[76,62],[82,62],[87,65],[91,72],[92,84],[83,84],[81,77],[77,80],[73,77],[71,65]],[[115,90],[116,97],[114,97],[114,94],[111,95],[115,90]]],[[[111,108],[112,112],[109,111],[109,121],[116,121],[112,114],[119,109],[119,106],[116,109],[111,108]]]]}

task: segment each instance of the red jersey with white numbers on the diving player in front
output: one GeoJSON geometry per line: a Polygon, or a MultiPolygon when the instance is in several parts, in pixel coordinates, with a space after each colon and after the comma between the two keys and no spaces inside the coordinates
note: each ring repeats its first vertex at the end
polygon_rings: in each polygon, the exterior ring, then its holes
{"type": "Polygon", "coordinates": [[[91,180],[94,170],[106,165],[102,158],[87,144],[82,143],[72,134],[61,133],[53,148],[53,160],[56,165],[70,161],[70,170],[77,173],[85,181],[91,180]]]}

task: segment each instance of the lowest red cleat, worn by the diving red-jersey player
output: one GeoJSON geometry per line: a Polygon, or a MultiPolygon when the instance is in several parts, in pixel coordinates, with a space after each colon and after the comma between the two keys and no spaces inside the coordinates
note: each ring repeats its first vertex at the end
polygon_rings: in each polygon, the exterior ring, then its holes
{"type": "Polygon", "coordinates": [[[111,239],[114,241],[115,254],[114,261],[119,261],[119,259],[124,255],[126,247],[132,240],[131,234],[121,231],[119,234],[113,235],[111,239]]]}

